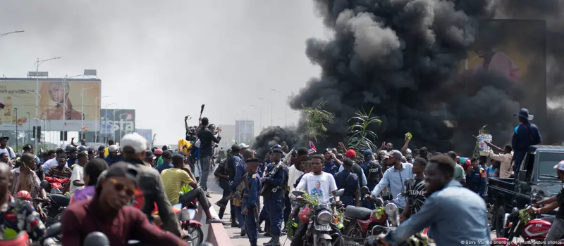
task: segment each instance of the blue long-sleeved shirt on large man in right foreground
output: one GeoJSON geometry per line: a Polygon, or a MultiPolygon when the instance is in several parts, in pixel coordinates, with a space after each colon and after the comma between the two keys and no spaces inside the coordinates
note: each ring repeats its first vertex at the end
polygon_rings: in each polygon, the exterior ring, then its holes
{"type": "Polygon", "coordinates": [[[398,244],[427,226],[436,245],[489,245],[486,203],[458,181],[431,194],[417,214],[388,233],[386,241],[398,244]]]}

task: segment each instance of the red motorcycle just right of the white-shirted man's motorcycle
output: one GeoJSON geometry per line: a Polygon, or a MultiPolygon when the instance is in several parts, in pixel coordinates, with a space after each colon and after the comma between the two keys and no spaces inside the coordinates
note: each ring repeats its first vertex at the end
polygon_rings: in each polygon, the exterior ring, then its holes
{"type": "MultiPolygon", "coordinates": [[[[360,189],[362,195],[368,195],[368,187],[360,189]]],[[[371,199],[369,196],[365,200],[371,199]]],[[[373,198],[376,209],[348,206],[345,209],[343,225],[344,245],[360,246],[371,245],[375,237],[381,233],[388,233],[391,228],[400,223],[398,207],[390,201],[384,202],[382,198],[373,198]]]]}

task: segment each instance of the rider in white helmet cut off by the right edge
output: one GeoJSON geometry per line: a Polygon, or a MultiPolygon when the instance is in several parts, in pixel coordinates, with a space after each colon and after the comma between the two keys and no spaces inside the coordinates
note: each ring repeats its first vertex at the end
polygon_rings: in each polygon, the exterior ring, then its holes
{"type": "MultiPolygon", "coordinates": [[[[556,164],[556,166],[554,166],[554,169],[556,169],[558,179],[564,182],[564,160],[556,164]]],[[[552,243],[548,242],[554,242],[559,238],[562,238],[562,236],[564,235],[564,187],[560,190],[560,193],[558,193],[558,195],[534,203],[530,208],[532,212],[541,214],[552,211],[557,207],[558,213],[556,214],[556,219],[554,219],[551,228],[548,230],[548,234],[546,234],[546,243],[544,245],[553,245],[552,243]],[[539,205],[545,206],[537,208],[539,207],[539,205]]]]}

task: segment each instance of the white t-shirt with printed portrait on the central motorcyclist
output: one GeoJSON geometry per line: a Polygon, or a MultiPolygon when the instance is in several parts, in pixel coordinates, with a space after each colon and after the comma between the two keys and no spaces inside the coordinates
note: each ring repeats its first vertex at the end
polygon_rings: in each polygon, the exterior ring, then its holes
{"type": "Polygon", "coordinates": [[[337,190],[337,184],[333,175],[323,171],[321,175],[304,174],[295,189],[304,190],[309,195],[317,196],[320,204],[329,204],[329,198],[333,197],[333,191],[337,190]]]}

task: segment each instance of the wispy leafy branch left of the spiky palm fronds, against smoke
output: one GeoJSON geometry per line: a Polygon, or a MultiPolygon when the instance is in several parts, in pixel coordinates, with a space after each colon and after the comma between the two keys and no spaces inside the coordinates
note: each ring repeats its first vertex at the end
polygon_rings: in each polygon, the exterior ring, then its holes
{"type": "Polygon", "coordinates": [[[325,125],[333,123],[335,115],[329,111],[321,110],[324,105],[325,101],[321,101],[315,107],[305,107],[302,103],[302,110],[305,114],[302,130],[308,139],[314,138],[317,141],[317,138],[325,138],[324,133],[327,131],[325,125]]]}

